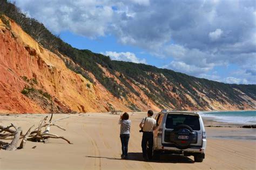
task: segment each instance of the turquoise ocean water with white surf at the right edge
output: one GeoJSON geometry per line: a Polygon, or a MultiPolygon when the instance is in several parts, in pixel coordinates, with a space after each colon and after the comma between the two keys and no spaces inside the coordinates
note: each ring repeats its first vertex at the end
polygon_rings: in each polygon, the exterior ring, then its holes
{"type": "Polygon", "coordinates": [[[256,110],[203,112],[200,115],[202,117],[213,117],[214,121],[217,122],[256,124],[256,110]]]}

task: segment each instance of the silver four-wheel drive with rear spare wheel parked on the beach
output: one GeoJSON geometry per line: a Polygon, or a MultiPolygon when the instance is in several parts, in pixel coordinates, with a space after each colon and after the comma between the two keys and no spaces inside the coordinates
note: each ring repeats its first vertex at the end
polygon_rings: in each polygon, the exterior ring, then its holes
{"type": "Polygon", "coordinates": [[[206,133],[203,120],[197,112],[163,110],[156,116],[153,157],[161,153],[194,156],[194,161],[205,158],[206,133]]]}

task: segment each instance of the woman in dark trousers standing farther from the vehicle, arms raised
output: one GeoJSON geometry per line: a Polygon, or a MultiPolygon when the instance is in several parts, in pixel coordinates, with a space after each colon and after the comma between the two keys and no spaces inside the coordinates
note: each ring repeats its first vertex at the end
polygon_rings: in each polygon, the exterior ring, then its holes
{"type": "Polygon", "coordinates": [[[129,114],[124,112],[124,114],[120,116],[119,124],[120,124],[120,139],[122,143],[121,158],[128,159],[128,143],[130,138],[130,127],[131,127],[129,114]]]}

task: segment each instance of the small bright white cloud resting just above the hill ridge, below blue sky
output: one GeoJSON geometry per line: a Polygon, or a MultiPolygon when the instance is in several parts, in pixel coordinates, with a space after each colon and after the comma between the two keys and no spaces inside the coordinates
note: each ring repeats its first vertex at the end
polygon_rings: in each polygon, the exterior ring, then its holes
{"type": "Polygon", "coordinates": [[[112,60],[119,60],[119,61],[130,61],[135,63],[146,63],[146,59],[138,59],[137,56],[134,53],[131,52],[112,52],[112,51],[106,51],[105,53],[102,53],[104,55],[110,56],[112,60]]]}

